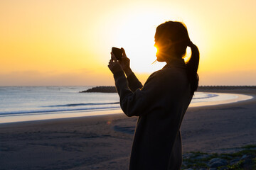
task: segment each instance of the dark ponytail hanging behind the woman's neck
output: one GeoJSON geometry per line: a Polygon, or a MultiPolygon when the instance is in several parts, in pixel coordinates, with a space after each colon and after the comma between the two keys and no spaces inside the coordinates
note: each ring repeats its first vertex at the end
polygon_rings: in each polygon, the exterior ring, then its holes
{"type": "Polygon", "coordinates": [[[188,43],[188,47],[191,47],[191,58],[186,63],[186,73],[188,76],[188,81],[191,85],[191,94],[198,89],[199,77],[197,74],[198,64],[199,64],[199,50],[193,42],[188,43]]]}

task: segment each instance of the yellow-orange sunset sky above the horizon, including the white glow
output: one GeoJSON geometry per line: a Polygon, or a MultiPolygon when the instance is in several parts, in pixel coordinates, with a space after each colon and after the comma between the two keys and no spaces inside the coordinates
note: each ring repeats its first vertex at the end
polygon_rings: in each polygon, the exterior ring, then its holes
{"type": "MultiPolygon", "coordinates": [[[[256,1],[0,1],[0,86],[114,85],[111,47],[146,81],[154,33],[182,21],[198,45],[200,85],[256,85],[256,1]]],[[[188,49],[188,55],[190,51],[188,49]]]]}

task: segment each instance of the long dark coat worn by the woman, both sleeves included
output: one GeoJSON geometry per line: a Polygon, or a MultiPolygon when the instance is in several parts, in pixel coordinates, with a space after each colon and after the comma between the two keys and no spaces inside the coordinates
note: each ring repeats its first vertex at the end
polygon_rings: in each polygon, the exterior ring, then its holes
{"type": "Polygon", "coordinates": [[[122,111],[139,116],[129,169],[181,169],[180,126],[192,98],[184,61],[166,64],[144,86],[134,74],[117,72],[114,80],[122,111]]]}

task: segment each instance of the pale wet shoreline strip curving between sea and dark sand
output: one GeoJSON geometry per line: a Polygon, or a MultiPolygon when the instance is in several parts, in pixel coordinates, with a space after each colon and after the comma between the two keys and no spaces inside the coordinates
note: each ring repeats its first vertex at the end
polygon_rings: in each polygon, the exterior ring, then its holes
{"type": "MultiPolygon", "coordinates": [[[[191,103],[188,108],[194,107],[208,107],[208,106],[218,106],[218,105],[225,105],[228,103],[239,103],[242,101],[248,101],[256,97],[256,95],[252,94],[244,94],[244,93],[230,93],[230,91],[234,91],[233,89],[230,90],[223,90],[219,89],[218,92],[215,89],[212,90],[199,90],[197,92],[209,93],[209,94],[220,94],[215,98],[213,101],[203,101],[198,103],[191,103]],[[233,96],[232,96],[233,95],[233,96]],[[223,99],[223,96],[231,96],[230,98],[223,99]],[[234,98],[236,96],[236,98],[234,98]],[[203,105],[203,106],[202,106],[203,105]]],[[[235,91],[241,91],[241,89],[235,89],[235,91]]],[[[112,108],[110,110],[95,110],[95,111],[60,111],[60,112],[48,112],[46,114],[27,114],[27,115],[9,115],[6,117],[1,117],[0,125],[6,123],[20,123],[20,122],[30,122],[30,121],[40,121],[40,120],[58,120],[58,119],[66,119],[66,118],[90,118],[93,116],[100,116],[100,115],[114,115],[114,114],[124,114],[122,113],[121,108],[112,108]]]]}

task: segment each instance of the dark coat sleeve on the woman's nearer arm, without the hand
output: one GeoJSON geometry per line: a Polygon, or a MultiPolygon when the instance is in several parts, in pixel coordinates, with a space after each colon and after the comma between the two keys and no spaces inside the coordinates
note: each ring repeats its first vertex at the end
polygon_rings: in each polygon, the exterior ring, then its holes
{"type": "Polygon", "coordinates": [[[120,97],[120,106],[127,116],[143,115],[148,111],[158,94],[158,81],[154,76],[149,77],[142,89],[132,92],[128,88],[128,81],[124,72],[114,74],[115,85],[120,97]]]}

